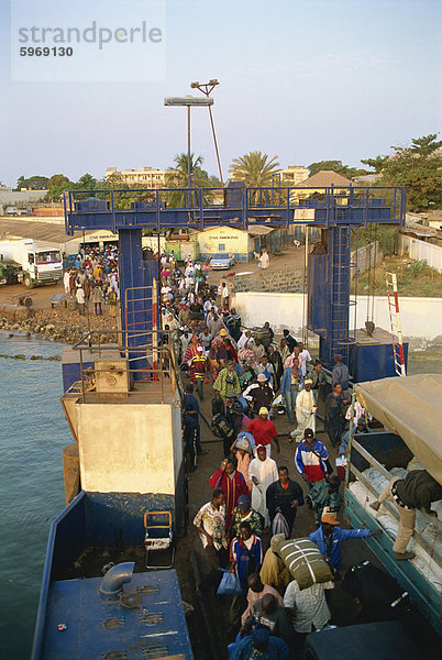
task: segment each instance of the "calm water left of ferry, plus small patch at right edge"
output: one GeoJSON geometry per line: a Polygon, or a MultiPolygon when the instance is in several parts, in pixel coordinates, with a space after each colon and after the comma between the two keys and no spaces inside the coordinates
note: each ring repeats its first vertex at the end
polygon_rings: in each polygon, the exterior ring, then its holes
{"type": "MultiPolygon", "coordinates": [[[[0,333],[0,648],[8,660],[30,657],[51,521],[64,507],[62,450],[71,442],[59,397],[60,354],[49,341],[0,333]]],[[[442,373],[442,354],[415,353],[410,374],[442,373]]]]}

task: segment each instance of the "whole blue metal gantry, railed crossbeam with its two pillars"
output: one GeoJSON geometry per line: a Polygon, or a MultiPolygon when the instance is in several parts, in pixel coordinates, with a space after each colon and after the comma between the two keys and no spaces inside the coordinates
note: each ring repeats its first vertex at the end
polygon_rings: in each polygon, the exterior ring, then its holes
{"type": "MultiPolygon", "coordinates": [[[[329,367],[336,352],[349,360],[352,232],[371,223],[404,226],[405,217],[406,188],[394,187],[248,188],[233,183],[222,189],[76,190],[65,196],[68,234],[99,229],[119,233],[122,307],[137,315],[137,331],[143,323],[146,332],[152,329],[152,311],[136,296],[131,302],[130,292],[151,287],[156,271],[143,258],[143,229],[303,224],[322,230],[321,244],[309,256],[308,327],[319,334],[320,360],[329,367]]],[[[128,318],[122,314],[124,331],[130,330],[128,318]]],[[[130,345],[140,342],[134,337],[130,345]]]]}

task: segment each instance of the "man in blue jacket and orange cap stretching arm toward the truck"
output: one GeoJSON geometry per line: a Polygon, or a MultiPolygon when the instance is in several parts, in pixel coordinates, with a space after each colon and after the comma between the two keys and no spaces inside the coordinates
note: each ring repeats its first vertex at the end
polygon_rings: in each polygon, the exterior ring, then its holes
{"type": "Polygon", "coordinates": [[[310,539],[318,546],[324,560],[333,571],[334,576],[339,575],[341,568],[341,546],[347,539],[363,539],[369,536],[377,536],[380,529],[371,531],[369,529],[342,529],[333,514],[323,514],[321,527],[310,535],[310,539]]]}

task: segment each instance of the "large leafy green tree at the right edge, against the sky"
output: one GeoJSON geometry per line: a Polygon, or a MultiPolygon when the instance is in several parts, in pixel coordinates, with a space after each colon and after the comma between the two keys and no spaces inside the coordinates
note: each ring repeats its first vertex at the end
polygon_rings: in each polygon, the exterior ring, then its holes
{"type": "Polygon", "coordinates": [[[393,146],[395,153],[385,162],[376,186],[407,186],[411,211],[442,208],[441,147],[437,133],[416,138],[408,147],[393,146]]]}

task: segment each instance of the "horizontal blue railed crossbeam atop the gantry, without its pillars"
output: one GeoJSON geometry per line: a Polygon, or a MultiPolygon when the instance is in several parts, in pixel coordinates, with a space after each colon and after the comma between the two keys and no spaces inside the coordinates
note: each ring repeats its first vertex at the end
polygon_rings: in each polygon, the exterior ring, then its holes
{"type": "MultiPolygon", "coordinates": [[[[318,193],[311,189],[311,194],[318,193]]],[[[366,224],[367,222],[404,224],[405,195],[401,188],[393,190],[393,202],[372,197],[383,188],[322,188],[321,198],[298,198],[308,195],[308,188],[243,188],[235,195],[225,189],[162,189],[162,190],[89,190],[70,191],[66,202],[66,228],[75,230],[129,228],[169,229],[176,227],[198,230],[229,224],[247,229],[255,223],[275,227],[311,224],[330,228],[339,224],[366,224]],[[213,195],[223,193],[222,205],[211,204],[213,195]],[[344,191],[344,193],[342,193],[344,191]],[[400,195],[397,194],[400,191],[400,195]],[[170,196],[180,194],[183,206],[170,207],[170,196]],[[86,197],[88,196],[88,197],[86,197]],[[150,201],[143,201],[145,197],[150,201]],[[210,197],[211,196],[211,197],[210,197]],[[123,199],[119,199],[123,197],[123,199]],[[188,200],[190,200],[189,204],[188,200]],[[346,204],[342,204],[345,201],[346,204]],[[314,209],[314,219],[302,220],[298,209],[314,209]]],[[[230,191],[233,193],[233,191],[230,191]]]]}

